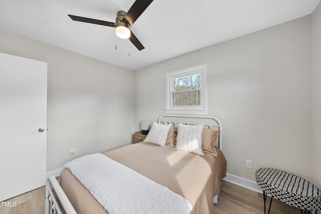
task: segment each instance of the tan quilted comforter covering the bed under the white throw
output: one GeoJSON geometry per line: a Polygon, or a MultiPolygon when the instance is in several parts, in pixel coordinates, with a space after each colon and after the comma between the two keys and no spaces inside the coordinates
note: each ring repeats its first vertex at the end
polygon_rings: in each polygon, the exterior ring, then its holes
{"type": "MultiPolygon", "coordinates": [[[[226,173],[224,155],[217,151],[217,157],[201,156],[140,142],[105,155],[182,195],[193,205],[191,213],[196,214],[214,212],[213,197],[220,193],[226,173]]],[[[77,213],[108,213],[68,169],[63,170],[59,181],[77,213]]]]}

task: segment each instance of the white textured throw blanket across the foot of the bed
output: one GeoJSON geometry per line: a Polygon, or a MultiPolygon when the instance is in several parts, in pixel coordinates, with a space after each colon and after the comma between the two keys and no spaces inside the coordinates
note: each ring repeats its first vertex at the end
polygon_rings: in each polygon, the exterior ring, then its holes
{"type": "Polygon", "coordinates": [[[68,168],[110,214],[192,210],[181,195],[101,153],[74,159],[63,168],[68,168]]]}

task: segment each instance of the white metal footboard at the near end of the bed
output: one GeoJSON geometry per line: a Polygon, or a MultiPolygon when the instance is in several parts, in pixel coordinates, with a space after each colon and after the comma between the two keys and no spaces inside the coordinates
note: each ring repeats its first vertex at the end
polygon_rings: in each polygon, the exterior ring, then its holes
{"type": "Polygon", "coordinates": [[[62,204],[65,212],[67,214],[77,214],[76,210],[72,206],[68,197],[66,196],[64,190],[59,185],[57,179],[50,175],[46,182],[46,207],[45,214],[62,214],[57,199],[53,193],[55,191],[56,195],[59,198],[60,203],[62,204]]]}

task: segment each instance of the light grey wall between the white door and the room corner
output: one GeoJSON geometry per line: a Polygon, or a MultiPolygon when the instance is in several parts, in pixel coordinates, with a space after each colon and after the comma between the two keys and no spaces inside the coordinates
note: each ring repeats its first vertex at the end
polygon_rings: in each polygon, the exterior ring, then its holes
{"type": "Polygon", "coordinates": [[[48,63],[47,171],[133,141],[132,71],[3,30],[0,38],[0,52],[48,63]]]}

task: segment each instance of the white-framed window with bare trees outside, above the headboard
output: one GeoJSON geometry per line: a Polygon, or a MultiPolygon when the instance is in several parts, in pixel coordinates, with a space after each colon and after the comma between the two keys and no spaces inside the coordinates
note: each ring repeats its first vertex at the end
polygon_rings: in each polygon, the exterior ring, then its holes
{"type": "Polygon", "coordinates": [[[207,65],[166,73],[168,113],[207,113],[207,65]]]}

